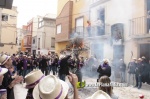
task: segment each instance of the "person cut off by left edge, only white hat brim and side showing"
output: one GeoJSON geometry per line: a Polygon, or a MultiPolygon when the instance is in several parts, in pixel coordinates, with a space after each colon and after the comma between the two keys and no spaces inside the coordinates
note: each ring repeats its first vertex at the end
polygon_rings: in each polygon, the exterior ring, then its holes
{"type": "Polygon", "coordinates": [[[0,67],[0,99],[7,99],[6,89],[3,89],[2,82],[4,78],[4,74],[8,71],[7,68],[0,67]]]}

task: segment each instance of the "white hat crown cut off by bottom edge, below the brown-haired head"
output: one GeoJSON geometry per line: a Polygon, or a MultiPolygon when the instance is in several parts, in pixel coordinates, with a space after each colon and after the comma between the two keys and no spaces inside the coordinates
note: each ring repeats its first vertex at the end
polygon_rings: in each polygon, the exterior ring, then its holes
{"type": "Polygon", "coordinates": [[[96,91],[91,97],[86,99],[111,99],[111,97],[102,90],[96,91]]]}

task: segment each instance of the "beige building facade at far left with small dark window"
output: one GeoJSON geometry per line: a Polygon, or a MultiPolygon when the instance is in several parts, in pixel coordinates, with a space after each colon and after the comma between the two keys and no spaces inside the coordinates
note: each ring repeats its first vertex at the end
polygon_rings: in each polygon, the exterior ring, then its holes
{"type": "Polygon", "coordinates": [[[3,45],[0,52],[13,54],[17,48],[17,7],[1,10],[0,43],[3,45]],[[9,36],[8,36],[9,35],[9,36]]]}

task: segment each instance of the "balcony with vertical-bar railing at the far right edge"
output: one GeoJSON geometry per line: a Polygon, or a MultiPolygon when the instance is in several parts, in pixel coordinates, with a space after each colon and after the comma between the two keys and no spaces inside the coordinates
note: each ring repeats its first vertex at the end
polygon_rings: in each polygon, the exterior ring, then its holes
{"type": "Polygon", "coordinates": [[[132,38],[150,37],[150,17],[143,16],[131,19],[129,36],[132,38]]]}

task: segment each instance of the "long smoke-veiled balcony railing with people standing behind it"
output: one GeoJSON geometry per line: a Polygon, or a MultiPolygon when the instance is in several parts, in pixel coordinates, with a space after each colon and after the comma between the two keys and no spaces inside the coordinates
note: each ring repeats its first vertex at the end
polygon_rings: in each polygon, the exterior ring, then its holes
{"type": "Polygon", "coordinates": [[[106,35],[110,35],[110,25],[105,24],[103,27],[91,26],[91,27],[75,27],[72,29],[72,33],[70,34],[70,38],[92,38],[92,37],[102,37],[106,35]]]}

